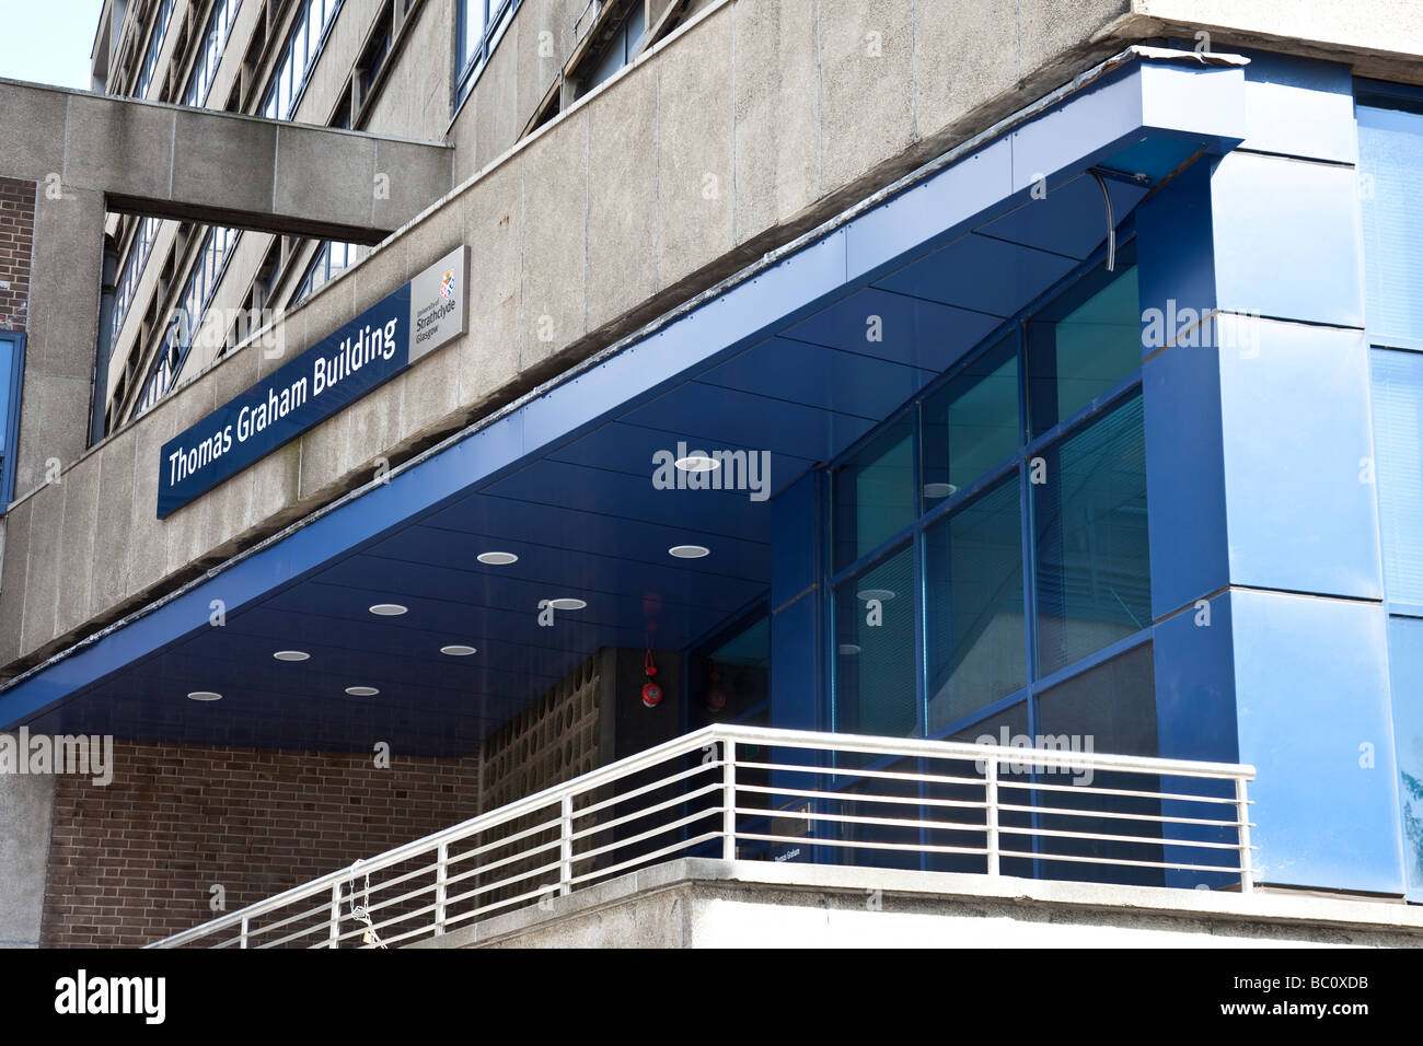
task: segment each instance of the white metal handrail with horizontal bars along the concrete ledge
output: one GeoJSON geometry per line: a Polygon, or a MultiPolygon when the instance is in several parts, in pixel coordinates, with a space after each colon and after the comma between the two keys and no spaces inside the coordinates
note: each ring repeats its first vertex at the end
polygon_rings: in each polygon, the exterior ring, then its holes
{"type": "MultiPolygon", "coordinates": [[[[1245,794],[1245,784],[1254,780],[1255,768],[1242,764],[1205,763],[1198,760],[1151,759],[1138,756],[1100,754],[1091,751],[1067,751],[1060,749],[1020,749],[996,744],[970,744],[962,741],[933,741],[924,739],[902,737],[869,737],[858,734],[840,734],[807,730],[783,730],[773,727],[756,727],[740,724],[713,724],[683,734],[669,741],[663,741],[646,751],[620,759],[598,770],[581,774],[579,777],[555,784],[536,791],[525,798],[509,803],[498,810],[492,810],[477,817],[471,817],[460,824],[396,847],[370,860],[359,862],[357,868],[342,868],[320,878],[312,879],[300,887],[276,894],[265,901],[248,905],[239,911],[222,915],[192,929],[175,934],[158,941],[151,948],[176,948],[192,945],[208,938],[213,938],[222,931],[236,931],[236,936],[223,938],[216,946],[239,948],[275,946],[280,944],[319,944],[312,946],[337,948],[343,941],[353,936],[363,938],[363,946],[384,944],[380,941],[380,931],[398,926],[400,932],[393,941],[404,941],[418,935],[441,935],[454,924],[468,922],[471,918],[495,914],[515,904],[542,902],[546,895],[566,895],[575,888],[618,874],[652,858],[666,858],[679,851],[687,851],[694,845],[704,845],[707,841],[720,838],[720,855],[726,860],[736,860],[739,842],[794,842],[798,845],[821,847],[841,854],[875,852],[882,850],[912,851],[919,854],[982,854],[986,855],[986,874],[1000,874],[1002,858],[1040,857],[1054,862],[1076,861],[1090,865],[1117,865],[1121,868],[1171,868],[1171,870],[1204,870],[1218,871],[1228,877],[1239,877],[1239,889],[1249,891],[1254,885],[1252,862],[1249,857],[1249,800],[1245,794]],[[787,763],[781,760],[746,759],[744,746],[761,749],[801,750],[815,753],[813,761],[787,763]],[[686,767],[677,764],[670,773],[659,776],[653,781],[638,780],[636,787],[608,794],[612,786],[626,781],[629,777],[646,774],[669,761],[682,760],[694,753],[702,753],[699,766],[686,767]],[[875,760],[933,760],[970,763],[973,770],[958,770],[953,774],[895,770],[887,771],[874,767],[845,766],[847,756],[872,757],[875,760]],[[1052,770],[1072,771],[1106,771],[1147,774],[1155,777],[1174,778],[1170,791],[1147,788],[1069,788],[1067,786],[1053,786],[1027,781],[1003,780],[1005,767],[1019,767],[1047,773],[1052,770]],[[747,773],[768,776],[770,784],[764,781],[751,783],[744,780],[747,773]],[[976,773],[976,776],[969,776],[976,773]],[[709,776],[710,774],[710,776],[709,776]],[[962,774],[962,776],[961,776],[962,774]],[[810,776],[813,780],[804,784],[791,783],[795,776],[810,776]],[[1220,794],[1220,788],[1208,794],[1191,794],[1183,781],[1232,781],[1234,788],[1229,796],[1220,794]],[[875,794],[872,791],[850,791],[835,787],[837,783],[854,781],[857,788],[864,786],[901,786],[914,784],[918,788],[916,797],[899,794],[875,794]],[[926,787],[948,786],[953,788],[980,788],[982,800],[945,800],[925,796],[926,787]],[[1009,800],[1003,800],[1003,788],[1012,788],[1009,800]],[[1160,807],[1157,813],[1141,814],[1128,811],[1113,811],[1101,808],[1073,808],[1059,804],[1029,805],[1025,804],[1022,790],[1043,788],[1053,794],[1074,791],[1094,797],[1120,801],[1123,798],[1147,800],[1173,804],[1228,804],[1229,810],[1221,808],[1221,820],[1211,820],[1202,815],[1200,808],[1192,808],[1190,815],[1183,813],[1173,817],[1160,807]],[[673,790],[676,790],[673,793],[673,790]],[[669,793],[672,797],[669,798],[669,793]],[[741,803],[737,803],[739,793],[741,803]],[[781,797],[794,803],[794,808],[785,808],[787,803],[774,805],[773,800],[781,797]],[[583,805],[579,807],[579,800],[583,805]],[[628,810],[635,800],[646,800],[645,805],[628,810]],[[754,801],[766,801],[766,807],[751,805],[754,801]],[[686,807],[702,803],[690,815],[686,807]],[[925,811],[945,810],[945,807],[962,807],[965,813],[983,811],[983,821],[939,821],[929,814],[912,817],[884,817],[882,814],[868,815],[864,813],[828,813],[830,804],[884,804],[915,805],[925,811]],[[815,807],[820,804],[820,808],[815,807]],[[623,810],[619,811],[619,807],[623,810]],[[1030,825],[1003,824],[1002,815],[1023,815],[1032,813],[1030,825]],[[538,814],[532,824],[524,823],[531,815],[538,814]],[[670,820],[657,820],[652,827],[640,824],[649,818],[666,815],[670,820]],[[1057,818],[1100,818],[1120,821],[1148,821],[1165,830],[1165,825],[1180,825],[1187,831],[1200,834],[1201,830],[1217,828],[1228,837],[1231,833],[1235,841],[1205,840],[1205,838],[1167,838],[1164,835],[1123,835],[1107,831],[1076,831],[1059,825],[1046,828],[1037,825],[1037,817],[1050,815],[1057,818]],[[606,820],[602,820],[605,818],[606,820]],[[716,830],[696,830],[697,823],[716,818],[716,830]],[[921,828],[921,838],[915,844],[896,844],[884,840],[850,840],[822,838],[804,835],[784,835],[774,830],[774,821],[788,818],[804,824],[807,830],[868,828],[884,831],[888,828],[921,828]],[[582,824],[592,820],[591,824],[582,824]],[[771,821],[770,830],[766,824],[747,824],[747,821],[771,821]],[[488,833],[512,827],[517,831],[494,841],[481,840],[488,833]],[[670,833],[679,833],[679,841],[673,845],[659,842],[657,838],[670,833]],[[982,845],[942,845],[931,844],[924,837],[926,833],[978,834],[983,837],[982,845]],[[1097,844],[1114,845],[1150,845],[1165,848],[1191,848],[1194,854],[1190,860],[1180,861],[1141,861],[1127,858],[1103,858],[1094,855],[1072,854],[1027,854],[1023,850],[1002,850],[1005,835],[1022,840],[1030,837],[1036,847],[1040,840],[1081,840],[1097,844]],[[683,838],[684,837],[684,838],[683,838]],[[464,852],[455,850],[455,844],[462,841],[475,842],[464,852]],[[629,850],[639,845],[646,847],[646,852],[632,852],[629,850]],[[499,851],[508,851],[502,857],[495,857],[499,851]],[[1235,851],[1238,862],[1235,865],[1207,865],[1192,861],[1202,860],[1201,851],[1235,851]],[[487,857],[488,855],[488,857],[487,857]],[[470,867],[461,861],[470,861],[470,867]],[[403,865],[416,858],[425,858],[428,864],[414,870],[400,870],[400,872],[384,882],[371,882],[371,877],[403,865]],[[603,861],[609,861],[603,867],[603,861]],[[522,864],[532,864],[529,870],[521,871],[522,864]],[[575,871],[581,865],[595,864],[589,871],[575,871]],[[457,871],[454,871],[457,870],[457,871]],[[556,878],[544,882],[542,878],[556,872],[556,878]],[[357,875],[369,885],[364,891],[356,888],[357,875]],[[494,877],[491,882],[481,878],[494,877]],[[421,885],[425,879],[428,884],[421,885]],[[529,885],[529,879],[539,879],[529,885]],[[455,889],[460,884],[460,889],[455,889]],[[521,885],[522,884],[522,885],[521,885]],[[350,889],[344,889],[346,887],[350,889]],[[384,897],[371,902],[371,895],[396,885],[408,885],[397,895],[384,897]],[[468,889],[462,887],[468,885],[468,889]],[[499,891],[512,891],[512,897],[499,897],[499,891]],[[354,922],[351,912],[357,909],[356,898],[361,894],[360,915],[363,922],[354,922]],[[417,902],[416,911],[401,912],[400,905],[417,902]],[[470,911],[453,911],[461,902],[474,904],[470,911]],[[287,909],[292,905],[303,905],[295,915],[287,909]],[[303,922],[319,919],[322,912],[327,912],[326,921],[313,922],[303,926],[303,922]],[[373,921],[373,914],[381,914],[380,921],[373,921]],[[391,912],[388,916],[386,912],[391,912]],[[270,925],[259,925],[269,915],[280,915],[270,925]],[[427,922],[417,926],[400,926],[401,922],[417,916],[430,915],[427,922]],[[342,924],[347,926],[343,929],[342,924]],[[277,941],[259,942],[262,934],[286,931],[277,941]]],[[[1036,774],[1035,774],[1036,780],[1036,774]]],[[[1164,784],[1164,783],[1163,783],[1164,784]]],[[[1022,845],[1022,844],[1019,844],[1022,845]]]]}

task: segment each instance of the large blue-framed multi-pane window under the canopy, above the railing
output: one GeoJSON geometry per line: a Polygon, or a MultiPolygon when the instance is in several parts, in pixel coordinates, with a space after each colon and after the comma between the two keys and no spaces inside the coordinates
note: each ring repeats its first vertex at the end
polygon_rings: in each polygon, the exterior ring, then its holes
{"type": "Polygon", "coordinates": [[[943,737],[1017,704],[1036,729],[1046,686],[1148,635],[1141,313],[1117,258],[831,464],[837,730],[943,737]]]}

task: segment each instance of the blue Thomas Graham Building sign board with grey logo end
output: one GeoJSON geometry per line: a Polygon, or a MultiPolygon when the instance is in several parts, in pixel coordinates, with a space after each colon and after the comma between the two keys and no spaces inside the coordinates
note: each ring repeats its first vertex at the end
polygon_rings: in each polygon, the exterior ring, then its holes
{"type": "Polygon", "coordinates": [[[158,453],[158,518],[211,491],[465,330],[460,246],[158,453]]]}

